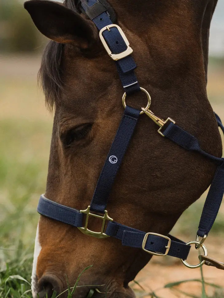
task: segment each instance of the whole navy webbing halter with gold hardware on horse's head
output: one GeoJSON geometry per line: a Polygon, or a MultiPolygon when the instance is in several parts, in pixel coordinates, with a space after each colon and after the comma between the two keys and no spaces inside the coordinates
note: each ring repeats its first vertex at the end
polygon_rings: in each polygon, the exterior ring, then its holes
{"type": "MultiPolygon", "coordinates": [[[[53,202],[45,198],[44,195],[41,195],[37,211],[41,215],[77,227],[81,232],[88,236],[101,239],[114,237],[122,240],[122,245],[141,248],[151,255],[170,255],[180,258],[183,264],[189,268],[202,266],[205,263],[205,258],[201,259],[201,262],[197,265],[190,265],[185,260],[187,259],[191,244],[195,244],[195,248],[197,249],[202,247],[204,256],[207,256],[207,249],[203,242],[215,221],[222,202],[224,193],[224,159],[215,157],[203,151],[199,145],[199,141],[193,135],[177,126],[175,121],[171,118],[168,117],[164,121],[163,119],[156,117],[153,112],[149,110],[151,98],[149,93],[141,88],[137,81],[137,77],[134,73],[137,66],[131,56],[133,50],[129,46],[129,42],[122,29],[118,25],[112,24],[108,6],[104,6],[102,0],[101,2],[97,0],[81,0],[80,5],[82,11],[87,14],[98,28],[100,39],[105,49],[115,62],[118,75],[125,91],[122,98],[125,110],[99,176],[90,206],[85,210],[79,211],[53,202]],[[137,91],[145,92],[148,98],[147,106],[141,108],[141,110],[131,108],[127,106],[125,102],[126,95],[137,91]],[[217,164],[217,170],[206,198],[195,241],[185,243],[171,235],[164,236],[127,227],[110,218],[106,211],[107,200],[114,179],[126,153],[129,141],[132,138],[139,115],[144,113],[159,126],[158,132],[160,135],[170,139],[188,151],[196,151],[202,154],[205,158],[210,159],[217,164]],[[84,225],[83,215],[85,215],[84,225]],[[102,220],[102,228],[100,232],[91,231],[88,228],[88,220],[90,217],[97,217],[102,220]],[[200,237],[201,239],[199,239],[200,237]]],[[[218,126],[221,127],[224,133],[224,127],[220,118],[216,114],[215,116],[218,126]]]]}

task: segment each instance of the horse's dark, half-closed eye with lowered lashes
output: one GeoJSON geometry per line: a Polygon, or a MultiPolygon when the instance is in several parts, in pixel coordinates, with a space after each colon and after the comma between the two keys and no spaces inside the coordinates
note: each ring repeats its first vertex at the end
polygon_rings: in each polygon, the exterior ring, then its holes
{"type": "Polygon", "coordinates": [[[87,123],[68,130],[61,136],[65,147],[69,147],[73,142],[83,139],[91,130],[92,124],[87,123]]]}

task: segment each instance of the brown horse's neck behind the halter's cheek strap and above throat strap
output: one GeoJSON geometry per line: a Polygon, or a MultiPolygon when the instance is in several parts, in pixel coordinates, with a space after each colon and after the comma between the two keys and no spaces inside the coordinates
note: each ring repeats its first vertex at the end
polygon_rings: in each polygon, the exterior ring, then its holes
{"type": "MultiPolygon", "coordinates": [[[[153,112],[177,119],[196,136],[206,119],[210,139],[218,140],[206,92],[208,32],[215,0],[208,2],[110,0],[133,47],[140,85],[152,96],[153,112]]],[[[203,136],[200,140],[207,151],[216,153],[203,136]]]]}

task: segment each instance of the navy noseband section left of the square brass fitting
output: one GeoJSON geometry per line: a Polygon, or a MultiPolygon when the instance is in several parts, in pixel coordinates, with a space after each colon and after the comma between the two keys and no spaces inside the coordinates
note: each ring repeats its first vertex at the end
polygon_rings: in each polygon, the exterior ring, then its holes
{"type": "Polygon", "coordinates": [[[78,210],[53,202],[42,194],[37,206],[37,212],[41,215],[55,219],[56,221],[70,224],[74,227],[82,227],[83,213],[78,210]]]}

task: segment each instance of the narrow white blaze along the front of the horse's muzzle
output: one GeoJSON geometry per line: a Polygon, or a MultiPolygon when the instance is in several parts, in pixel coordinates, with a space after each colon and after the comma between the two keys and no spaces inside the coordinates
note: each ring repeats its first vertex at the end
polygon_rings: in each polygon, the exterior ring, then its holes
{"type": "Polygon", "coordinates": [[[41,245],[39,242],[39,224],[37,225],[37,233],[35,238],[35,247],[34,247],[34,254],[33,254],[33,269],[32,269],[32,276],[31,276],[31,290],[33,298],[37,297],[37,258],[41,252],[41,245]]]}

